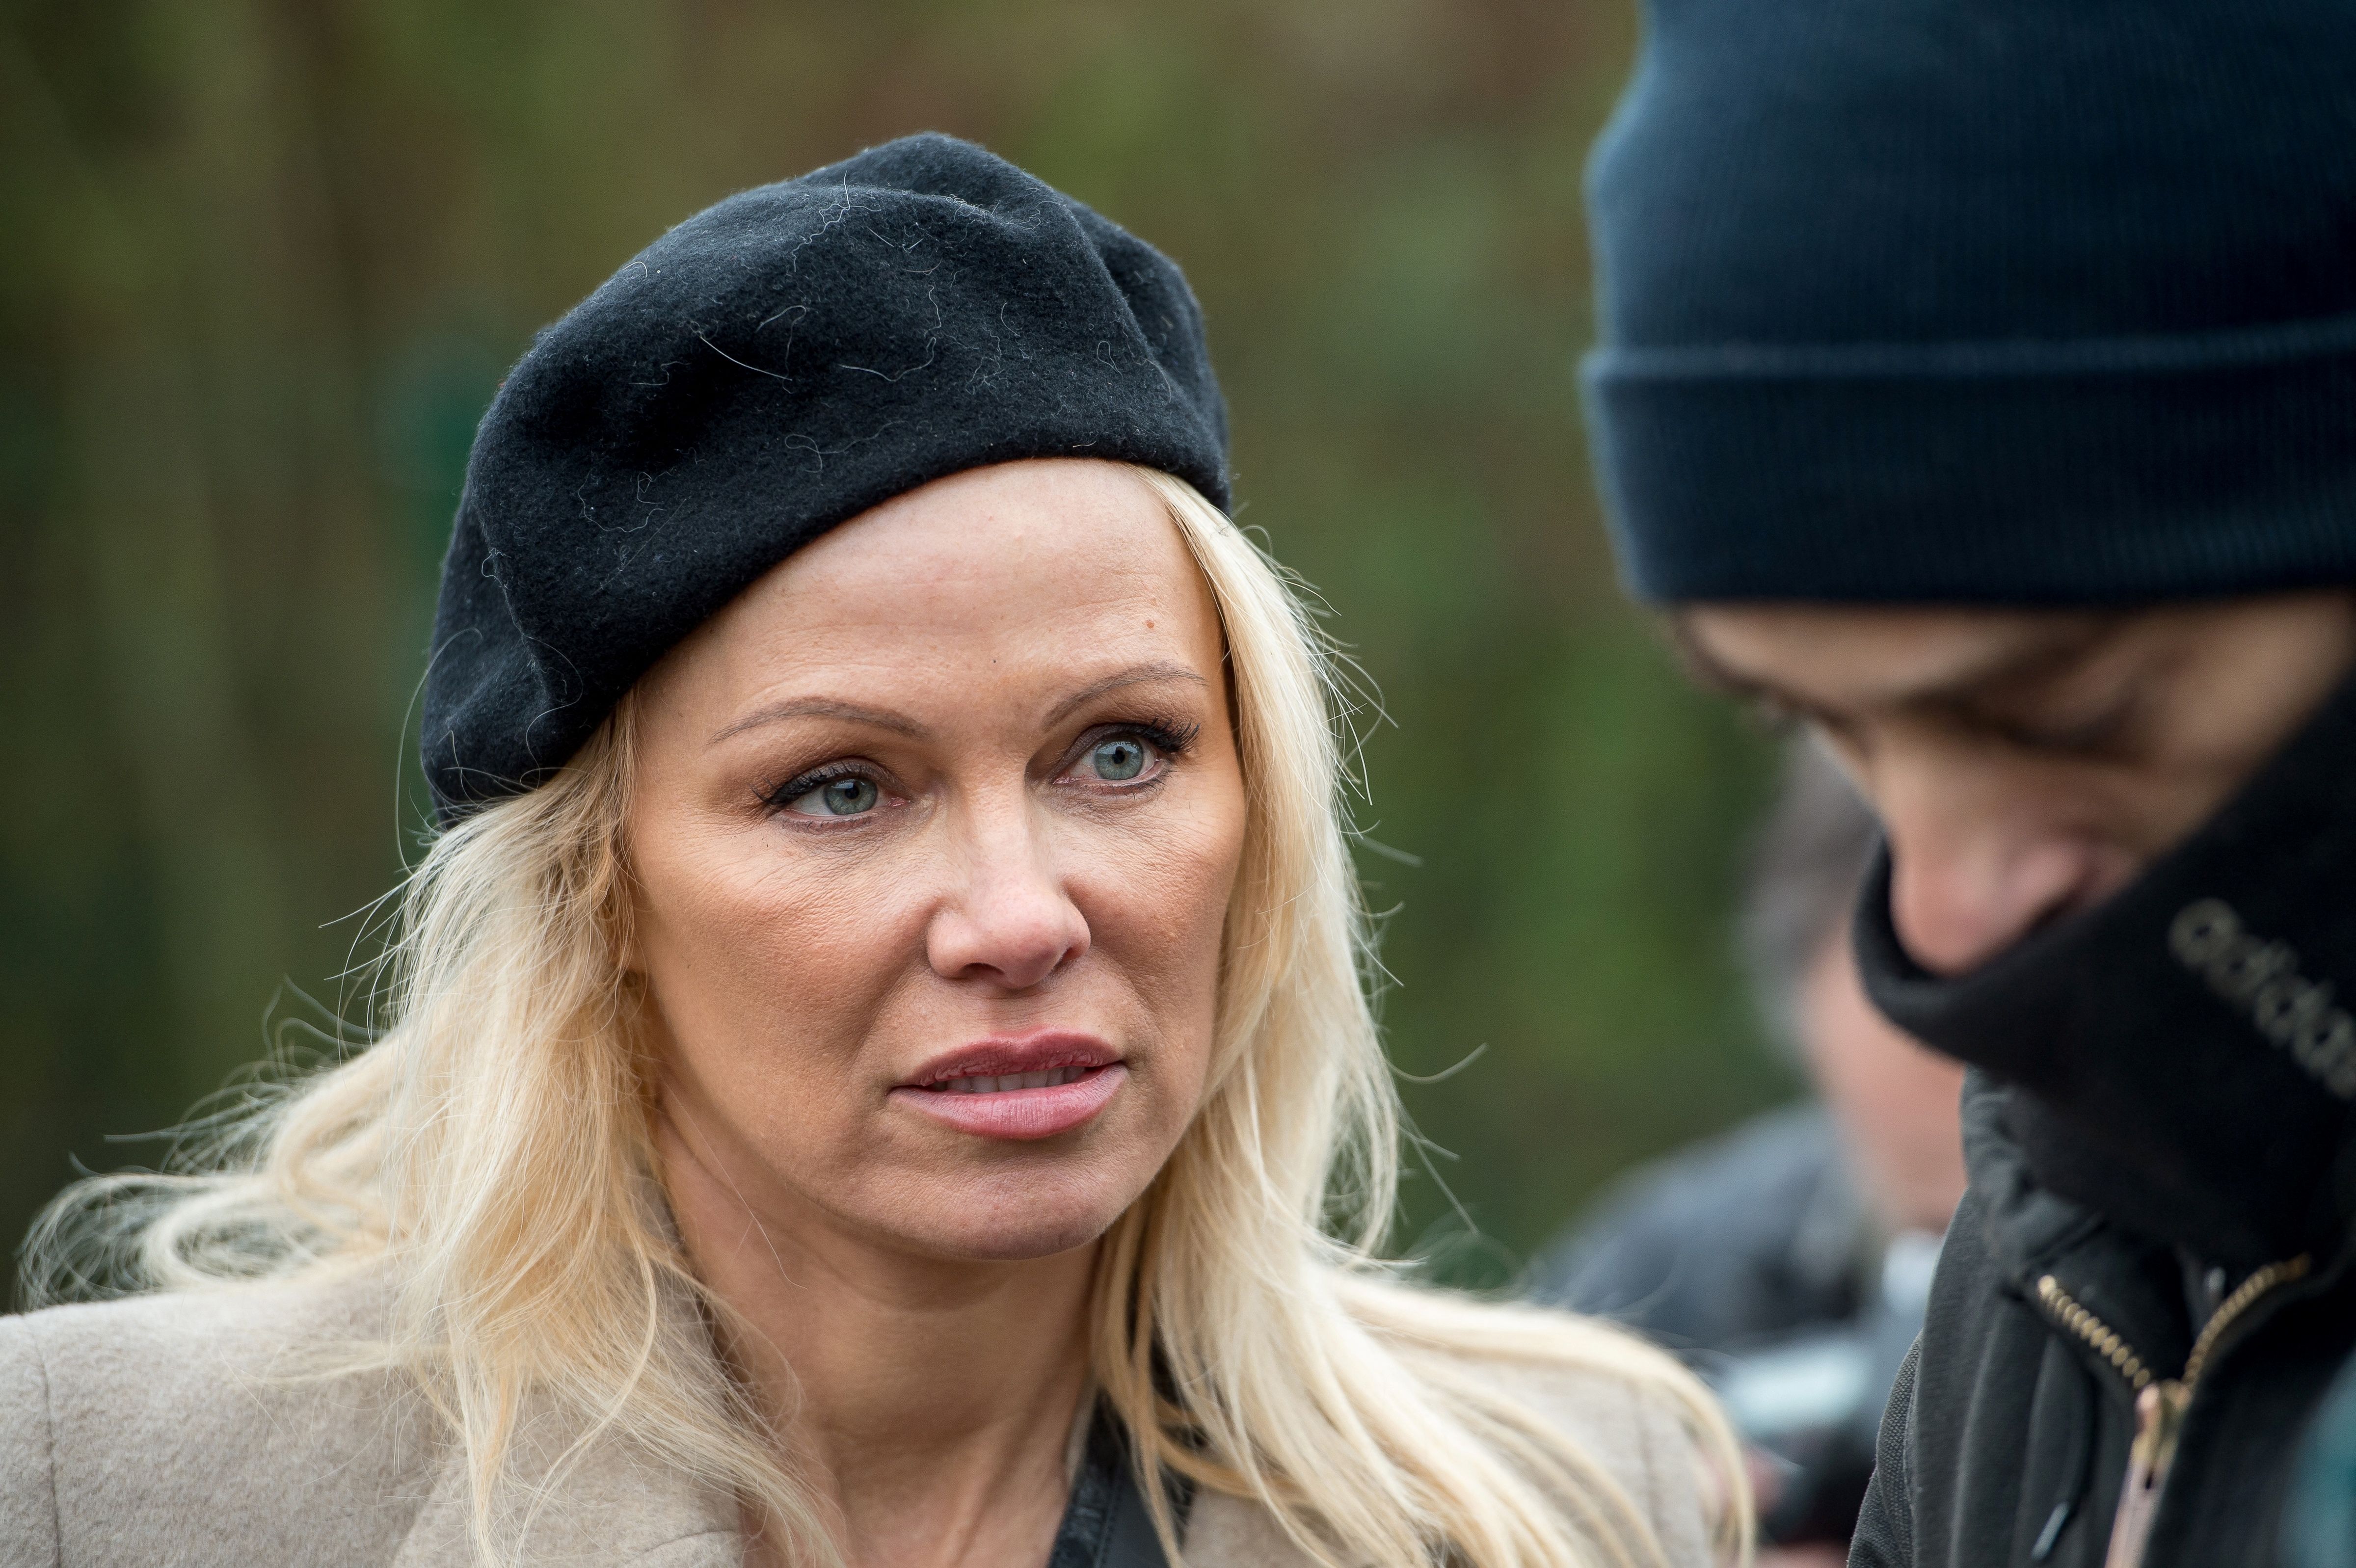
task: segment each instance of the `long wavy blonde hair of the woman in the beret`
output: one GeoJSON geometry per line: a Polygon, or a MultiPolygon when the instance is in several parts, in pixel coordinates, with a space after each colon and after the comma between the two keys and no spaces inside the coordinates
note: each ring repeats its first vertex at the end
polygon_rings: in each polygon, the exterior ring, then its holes
{"type": "MultiPolygon", "coordinates": [[[[1204,1104],[1093,1283],[1093,1375],[1140,1481],[1253,1500],[1329,1568],[1661,1563],[1623,1488],[1496,1366],[1586,1373],[1682,1417],[1718,1544],[1748,1556],[1734,1439],[1675,1361],[1381,1262],[1404,1128],[1348,855],[1341,666],[1235,523],[1136,473],[1216,598],[1249,798],[1204,1104]]],[[[742,1497],[785,1561],[834,1563],[714,1351],[733,1314],[660,1196],[655,1076],[617,958],[629,777],[624,699],[554,779],[441,833],[398,890],[382,1036],[247,1097],[198,1170],[68,1189],[26,1248],[28,1295],[108,1267],[191,1288],[389,1262],[382,1361],[417,1373],[462,1448],[485,1563],[514,1493],[537,1490],[518,1460],[537,1406],[584,1424],[575,1453],[638,1443],[742,1497]]],[[[1178,1561],[1164,1488],[1140,1490],[1178,1561]]]]}

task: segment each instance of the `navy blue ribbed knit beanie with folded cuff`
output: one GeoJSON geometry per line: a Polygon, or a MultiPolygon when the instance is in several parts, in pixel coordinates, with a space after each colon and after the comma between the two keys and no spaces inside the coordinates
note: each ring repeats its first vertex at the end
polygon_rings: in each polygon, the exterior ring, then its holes
{"type": "Polygon", "coordinates": [[[2356,582],[2351,0],[1654,0],[1588,200],[1642,598],[2356,582]]]}

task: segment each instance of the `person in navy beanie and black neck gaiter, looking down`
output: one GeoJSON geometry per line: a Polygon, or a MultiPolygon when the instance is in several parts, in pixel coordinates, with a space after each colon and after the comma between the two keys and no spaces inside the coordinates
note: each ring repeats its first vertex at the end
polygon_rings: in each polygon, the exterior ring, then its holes
{"type": "Polygon", "coordinates": [[[1626,584],[1972,1067],[1854,1563],[2269,1563],[2356,1347],[2349,148],[2342,0],[1656,0],[1595,151],[1626,584]]]}

